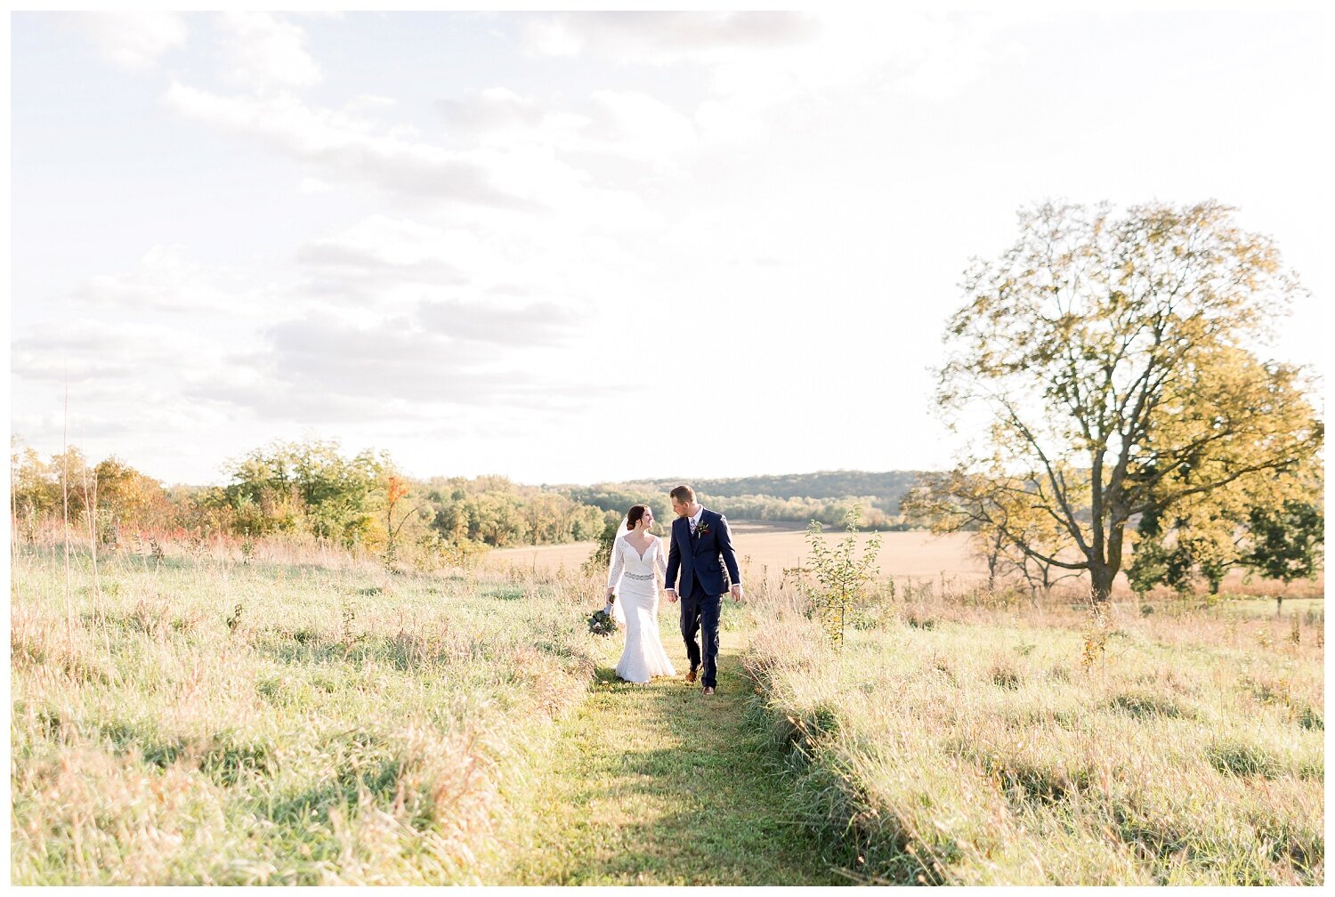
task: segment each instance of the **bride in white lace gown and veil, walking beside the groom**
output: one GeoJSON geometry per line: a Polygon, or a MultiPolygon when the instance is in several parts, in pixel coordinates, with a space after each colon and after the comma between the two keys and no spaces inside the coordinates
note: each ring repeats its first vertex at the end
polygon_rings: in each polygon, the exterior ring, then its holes
{"type": "Polygon", "coordinates": [[[654,513],[647,505],[631,507],[617,530],[607,565],[611,615],[626,626],[626,647],[617,661],[617,675],[626,682],[677,675],[658,637],[658,578],[666,575],[668,561],[662,539],[649,533],[653,525],[654,513]]]}

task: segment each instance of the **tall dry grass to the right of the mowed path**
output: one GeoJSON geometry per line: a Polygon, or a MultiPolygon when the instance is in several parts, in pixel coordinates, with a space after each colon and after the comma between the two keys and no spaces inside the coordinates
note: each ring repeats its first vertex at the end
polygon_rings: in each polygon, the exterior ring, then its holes
{"type": "Polygon", "coordinates": [[[1069,605],[901,586],[836,650],[765,586],[756,718],[862,880],[1323,882],[1323,611],[1127,603],[1099,633],[1069,605]]]}

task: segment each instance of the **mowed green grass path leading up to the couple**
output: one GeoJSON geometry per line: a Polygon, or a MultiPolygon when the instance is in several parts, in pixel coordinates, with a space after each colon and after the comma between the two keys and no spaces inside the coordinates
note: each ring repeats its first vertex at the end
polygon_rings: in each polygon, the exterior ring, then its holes
{"type": "Polygon", "coordinates": [[[777,756],[745,719],[745,637],[722,633],[718,690],[706,698],[685,682],[674,614],[669,605],[662,617],[673,678],[617,681],[613,637],[593,694],[561,723],[551,766],[535,777],[534,842],[506,884],[849,884],[785,809],[777,756]]]}

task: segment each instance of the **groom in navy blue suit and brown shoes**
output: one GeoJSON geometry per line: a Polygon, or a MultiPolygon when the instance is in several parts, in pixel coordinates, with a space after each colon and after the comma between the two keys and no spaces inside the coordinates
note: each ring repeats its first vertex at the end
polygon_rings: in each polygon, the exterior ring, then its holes
{"type": "Polygon", "coordinates": [[[672,523],[672,549],[668,550],[668,601],[677,601],[677,574],[681,573],[681,637],[690,658],[686,681],[696,681],[696,670],[704,661],[701,685],[705,694],[713,694],[718,685],[718,611],[724,593],[729,591],[724,565],[728,566],[728,582],[733,585],[733,599],[742,597],[737,554],[728,518],[697,505],[696,490],[678,486],[669,497],[677,519],[672,523]],[[704,646],[696,643],[696,633],[701,629],[704,646]]]}

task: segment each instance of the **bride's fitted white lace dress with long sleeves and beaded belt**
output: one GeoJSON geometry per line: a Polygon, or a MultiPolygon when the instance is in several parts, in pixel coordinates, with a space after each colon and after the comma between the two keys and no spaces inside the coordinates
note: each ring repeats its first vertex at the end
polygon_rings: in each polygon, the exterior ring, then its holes
{"type": "Polygon", "coordinates": [[[658,637],[658,578],[668,574],[662,539],[653,537],[641,557],[626,537],[618,537],[611,553],[607,586],[615,590],[626,619],[626,647],[617,661],[617,675],[641,683],[655,675],[677,675],[658,637]]]}

